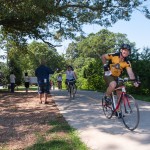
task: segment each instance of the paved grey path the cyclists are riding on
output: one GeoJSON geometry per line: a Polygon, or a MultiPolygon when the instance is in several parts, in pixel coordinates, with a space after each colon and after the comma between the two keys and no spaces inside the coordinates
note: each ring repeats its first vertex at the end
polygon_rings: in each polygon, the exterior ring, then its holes
{"type": "Polygon", "coordinates": [[[131,132],[121,119],[106,119],[101,106],[102,93],[78,91],[71,101],[66,90],[51,93],[60,112],[91,150],[150,150],[150,103],[137,100],[140,123],[131,132]]]}

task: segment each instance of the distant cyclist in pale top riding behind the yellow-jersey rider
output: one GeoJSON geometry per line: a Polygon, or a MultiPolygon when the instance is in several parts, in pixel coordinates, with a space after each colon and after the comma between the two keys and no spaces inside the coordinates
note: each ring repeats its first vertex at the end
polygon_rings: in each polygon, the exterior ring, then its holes
{"type": "Polygon", "coordinates": [[[76,79],[77,79],[77,75],[76,73],[73,71],[72,66],[68,66],[67,70],[66,70],[66,86],[68,87],[68,82],[69,81],[74,81],[74,83],[76,83],[76,79]]]}

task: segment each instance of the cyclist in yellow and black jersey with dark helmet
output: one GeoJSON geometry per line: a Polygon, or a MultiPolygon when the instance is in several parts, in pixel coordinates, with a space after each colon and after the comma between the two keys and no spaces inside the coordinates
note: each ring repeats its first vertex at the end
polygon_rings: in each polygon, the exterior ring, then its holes
{"type": "MultiPolygon", "coordinates": [[[[135,75],[128,61],[128,56],[131,53],[131,47],[128,44],[122,44],[119,53],[103,54],[101,59],[104,64],[104,80],[108,86],[105,93],[105,100],[111,103],[110,95],[117,86],[116,79],[121,75],[123,69],[127,70],[130,79],[135,79],[135,75]],[[107,63],[109,61],[109,63],[107,63]]],[[[138,87],[138,83],[134,82],[134,86],[138,87]]],[[[119,91],[117,93],[119,95],[119,91]]]]}

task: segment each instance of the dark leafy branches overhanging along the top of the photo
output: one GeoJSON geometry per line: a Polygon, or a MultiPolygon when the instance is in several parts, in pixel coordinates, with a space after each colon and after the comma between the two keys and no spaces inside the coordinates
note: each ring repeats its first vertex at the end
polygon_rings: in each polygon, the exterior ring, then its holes
{"type": "Polygon", "coordinates": [[[82,32],[83,24],[110,26],[120,19],[128,21],[135,9],[150,18],[143,5],[146,1],[1,0],[0,30],[17,42],[26,42],[29,37],[54,46],[52,40],[74,38],[76,32],[82,32]]]}

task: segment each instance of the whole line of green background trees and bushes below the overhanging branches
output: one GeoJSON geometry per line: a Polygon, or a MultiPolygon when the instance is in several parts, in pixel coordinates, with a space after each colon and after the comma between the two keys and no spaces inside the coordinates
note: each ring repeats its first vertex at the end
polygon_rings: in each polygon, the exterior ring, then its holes
{"type": "MultiPolygon", "coordinates": [[[[45,59],[47,65],[55,71],[52,76],[56,83],[59,73],[62,73],[65,80],[65,70],[67,65],[72,65],[78,75],[78,88],[86,90],[104,91],[106,86],[103,80],[103,64],[101,55],[104,53],[113,53],[119,51],[122,43],[128,43],[132,47],[132,53],[129,57],[132,68],[139,76],[142,84],[138,90],[128,84],[128,90],[131,93],[150,94],[150,49],[144,48],[141,52],[136,48],[134,42],[130,42],[125,34],[113,33],[103,29],[96,34],[89,34],[87,37],[77,37],[69,44],[66,54],[59,55],[55,48],[48,44],[33,41],[26,45],[24,50],[18,47],[10,46],[11,41],[5,45],[8,53],[7,63],[1,63],[1,71],[4,74],[3,82],[9,83],[9,74],[14,71],[16,83],[23,84],[23,75],[28,72],[34,76],[34,71],[39,65],[39,60],[45,59]],[[9,49],[9,50],[8,50],[9,49]]],[[[126,72],[123,73],[125,76],[126,72]]],[[[65,84],[63,83],[63,87],[65,84]]]]}

